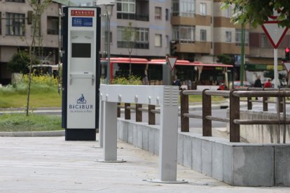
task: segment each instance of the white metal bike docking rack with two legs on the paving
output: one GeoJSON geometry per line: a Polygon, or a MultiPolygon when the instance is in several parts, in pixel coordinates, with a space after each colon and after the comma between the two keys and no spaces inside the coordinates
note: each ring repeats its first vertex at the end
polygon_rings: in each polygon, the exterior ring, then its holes
{"type": "MultiPolygon", "coordinates": [[[[140,104],[149,105],[149,108],[160,106],[159,179],[148,181],[187,183],[184,180],[177,181],[178,87],[101,85],[99,93],[99,145],[104,147],[104,160],[98,162],[119,162],[117,160],[118,103],[136,103],[137,108],[140,104]]],[[[125,109],[130,111],[130,108],[125,109]]],[[[140,115],[136,113],[136,116],[140,115]]]]}

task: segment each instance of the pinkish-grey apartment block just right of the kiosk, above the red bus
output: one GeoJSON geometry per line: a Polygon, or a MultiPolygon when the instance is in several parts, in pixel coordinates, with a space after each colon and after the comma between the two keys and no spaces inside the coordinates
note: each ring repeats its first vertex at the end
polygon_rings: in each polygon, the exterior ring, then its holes
{"type": "MultiPolygon", "coordinates": [[[[132,57],[164,58],[172,40],[171,6],[170,1],[117,0],[110,20],[111,57],[127,57],[132,52],[132,57]],[[134,31],[130,40],[126,37],[129,26],[134,31]],[[128,46],[127,41],[134,45],[128,46]]],[[[102,34],[101,41],[106,44],[106,17],[102,19],[102,34]]],[[[103,43],[101,50],[106,50],[103,43]]]]}

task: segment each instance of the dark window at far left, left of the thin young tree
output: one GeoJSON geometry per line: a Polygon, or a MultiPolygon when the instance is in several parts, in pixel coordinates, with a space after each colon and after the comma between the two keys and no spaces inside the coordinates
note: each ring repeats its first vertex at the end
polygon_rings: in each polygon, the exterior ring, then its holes
{"type": "Polygon", "coordinates": [[[6,35],[25,35],[25,14],[6,13],[6,35]]]}

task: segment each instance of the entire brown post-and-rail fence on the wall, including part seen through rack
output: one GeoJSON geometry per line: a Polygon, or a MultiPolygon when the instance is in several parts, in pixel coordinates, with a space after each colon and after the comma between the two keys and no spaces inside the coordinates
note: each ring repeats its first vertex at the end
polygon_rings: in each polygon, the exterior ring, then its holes
{"type": "MultiPolygon", "coordinates": [[[[286,120],[286,97],[290,96],[290,89],[273,89],[273,88],[247,88],[239,90],[182,90],[180,92],[180,119],[181,132],[189,131],[189,118],[202,119],[202,136],[212,136],[212,121],[229,123],[230,142],[240,142],[240,125],[242,124],[279,124],[284,126],[283,143],[286,139],[286,124],[290,124],[290,120],[286,120]],[[202,96],[202,115],[189,113],[188,96],[202,96]],[[212,96],[228,97],[229,100],[229,117],[212,116],[212,96]],[[261,97],[262,100],[255,100],[261,97]],[[274,98],[275,100],[270,100],[274,98]],[[254,98],[254,100],[252,99],[254,98]],[[274,120],[240,120],[240,102],[247,102],[247,109],[252,110],[253,103],[263,103],[263,111],[268,111],[268,103],[276,103],[275,113],[277,118],[274,120]]],[[[160,109],[155,105],[142,106],[136,103],[118,103],[117,116],[120,117],[120,108],[125,110],[125,120],[131,119],[131,110],[135,111],[136,122],[142,122],[142,113],[148,113],[148,124],[156,124],[156,113],[160,113],[160,109]]]]}

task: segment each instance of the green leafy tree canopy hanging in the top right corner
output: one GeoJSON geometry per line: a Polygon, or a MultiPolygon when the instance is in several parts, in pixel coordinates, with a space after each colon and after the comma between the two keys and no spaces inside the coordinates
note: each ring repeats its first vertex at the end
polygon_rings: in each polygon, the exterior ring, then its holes
{"type": "Polygon", "coordinates": [[[279,24],[290,27],[290,1],[289,0],[222,0],[221,8],[233,8],[231,21],[235,24],[249,23],[253,27],[268,21],[268,16],[278,10],[279,24]]]}

